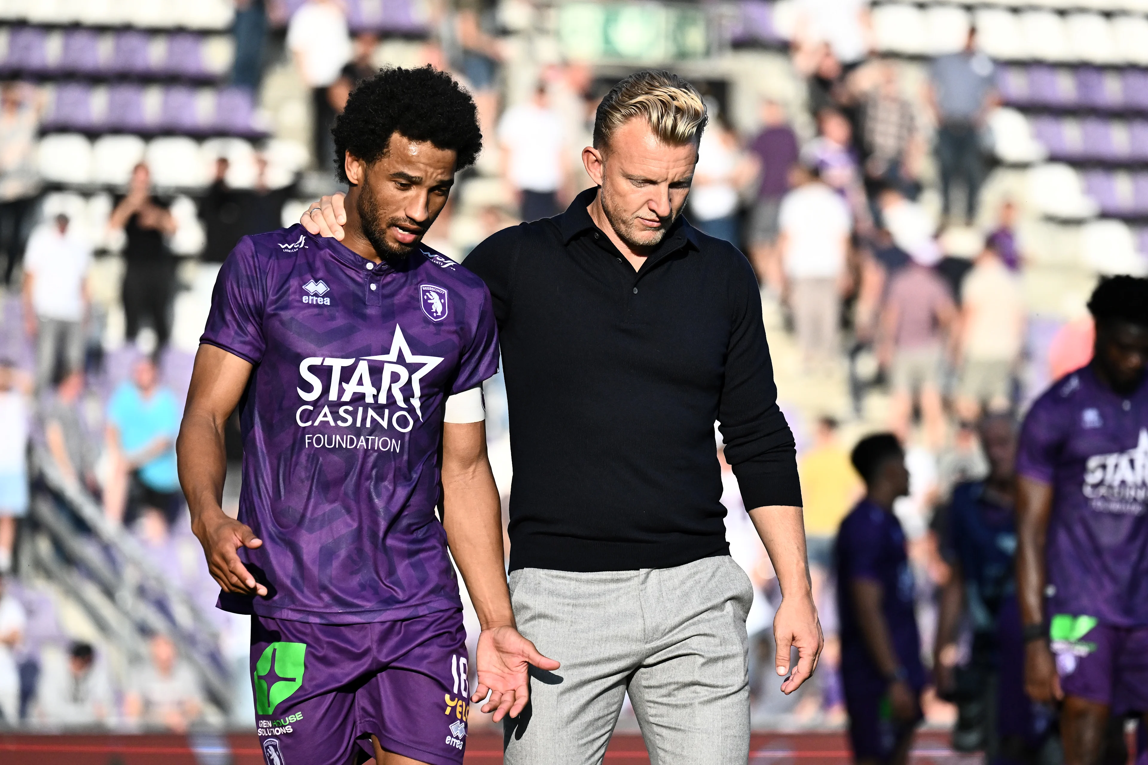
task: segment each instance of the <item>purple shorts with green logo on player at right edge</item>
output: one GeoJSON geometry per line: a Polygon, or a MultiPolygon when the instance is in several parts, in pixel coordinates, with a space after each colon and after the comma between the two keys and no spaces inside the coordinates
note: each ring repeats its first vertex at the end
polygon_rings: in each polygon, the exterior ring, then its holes
{"type": "Polygon", "coordinates": [[[1049,630],[1061,688],[1116,715],[1148,712],[1148,627],[1058,614],[1049,630]]]}

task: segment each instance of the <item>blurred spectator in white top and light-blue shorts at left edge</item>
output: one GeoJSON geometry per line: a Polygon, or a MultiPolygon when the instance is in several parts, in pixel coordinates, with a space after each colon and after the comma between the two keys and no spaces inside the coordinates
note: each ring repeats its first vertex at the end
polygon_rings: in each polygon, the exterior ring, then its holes
{"type": "Polygon", "coordinates": [[[11,570],[16,520],[28,514],[28,434],[31,384],[0,359],[0,575],[11,570]]]}

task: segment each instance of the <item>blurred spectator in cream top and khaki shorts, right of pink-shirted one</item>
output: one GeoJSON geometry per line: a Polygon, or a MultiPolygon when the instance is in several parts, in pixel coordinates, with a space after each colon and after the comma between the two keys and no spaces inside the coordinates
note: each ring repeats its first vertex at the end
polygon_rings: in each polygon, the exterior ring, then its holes
{"type": "Polygon", "coordinates": [[[990,412],[1009,408],[1024,331],[1021,284],[996,251],[985,247],[961,288],[959,416],[971,422],[983,405],[990,412]]]}

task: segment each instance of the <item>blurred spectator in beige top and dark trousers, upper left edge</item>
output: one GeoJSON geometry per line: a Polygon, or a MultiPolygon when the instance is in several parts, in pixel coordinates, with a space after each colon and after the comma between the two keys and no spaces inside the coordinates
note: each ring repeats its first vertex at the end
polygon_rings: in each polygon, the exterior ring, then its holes
{"type": "Polygon", "coordinates": [[[5,287],[24,255],[31,211],[40,193],[36,134],[40,104],[34,91],[20,83],[0,86],[0,251],[7,257],[5,287]]]}

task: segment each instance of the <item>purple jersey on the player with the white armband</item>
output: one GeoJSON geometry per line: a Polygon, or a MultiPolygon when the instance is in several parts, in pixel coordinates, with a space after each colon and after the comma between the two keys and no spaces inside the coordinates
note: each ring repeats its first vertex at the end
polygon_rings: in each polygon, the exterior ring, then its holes
{"type": "Polygon", "coordinates": [[[246,236],[201,338],[255,365],[240,404],[240,559],[266,598],[219,607],[357,624],[459,608],[435,516],[447,396],[497,372],[482,281],[420,247],[375,265],[302,226],[246,236]]]}

